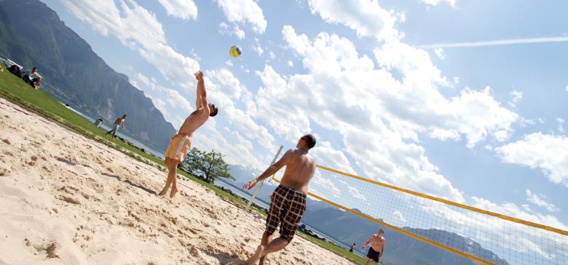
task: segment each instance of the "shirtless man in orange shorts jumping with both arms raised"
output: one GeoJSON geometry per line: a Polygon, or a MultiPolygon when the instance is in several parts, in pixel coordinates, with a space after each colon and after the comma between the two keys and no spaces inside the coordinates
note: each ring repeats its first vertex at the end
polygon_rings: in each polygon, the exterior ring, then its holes
{"type": "Polygon", "coordinates": [[[166,150],[166,157],[164,159],[164,164],[168,168],[168,180],[166,180],[166,186],[158,195],[166,195],[170,185],[172,185],[172,191],[170,192],[170,198],[173,198],[177,193],[177,165],[183,161],[185,154],[188,154],[192,145],[193,132],[197,128],[201,127],[209,117],[214,117],[217,115],[218,109],[214,104],[207,103],[207,92],[205,92],[205,83],[203,82],[203,72],[196,72],[195,79],[197,79],[197,99],[195,101],[195,111],[190,114],[189,117],[185,119],[185,122],[179,128],[179,133],[172,137],[170,145],[166,150]]]}

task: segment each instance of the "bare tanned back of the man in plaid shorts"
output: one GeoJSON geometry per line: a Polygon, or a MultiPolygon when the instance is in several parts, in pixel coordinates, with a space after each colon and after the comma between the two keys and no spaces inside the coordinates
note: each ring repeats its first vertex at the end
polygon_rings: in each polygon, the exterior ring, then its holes
{"type": "Polygon", "coordinates": [[[289,159],[280,184],[307,194],[309,181],[315,173],[315,161],[306,151],[299,149],[290,150],[285,155],[289,159]]]}

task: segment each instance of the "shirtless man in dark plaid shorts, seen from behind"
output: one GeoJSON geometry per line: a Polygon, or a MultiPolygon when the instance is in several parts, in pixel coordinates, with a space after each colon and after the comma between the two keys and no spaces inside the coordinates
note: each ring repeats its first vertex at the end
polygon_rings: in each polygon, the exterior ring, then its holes
{"type": "Polygon", "coordinates": [[[246,182],[244,189],[253,189],[258,183],[274,175],[286,166],[280,185],[270,199],[270,209],[266,218],[266,230],[262,234],[257,251],[246,261],[246,264],[264,263],[268,253],[276,252],[286,247],[296,229],[300,226],[300,219],[306,210],[306,195],[308,184],[315,172],[315,161],[308,152],[315,145],[313,135],[304,135],[298,140],[296,150],[288,150],[282,158],[271,165],[258,178],[246,182]],[[272,239],[272,234],[280,224],[280,237],[272,239]]]}

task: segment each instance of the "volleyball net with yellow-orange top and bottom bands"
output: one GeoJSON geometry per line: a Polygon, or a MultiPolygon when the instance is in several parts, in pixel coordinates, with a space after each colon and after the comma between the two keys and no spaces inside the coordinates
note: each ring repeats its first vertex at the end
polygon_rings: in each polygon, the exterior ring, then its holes
{"type": "MultiPolygon", "coordinates": [[[[280,182],[282,172],[272,180],[280,182]]],[[[568,231],[318,165],[309,197],[481,264],[568,264],[568,231]]]]}

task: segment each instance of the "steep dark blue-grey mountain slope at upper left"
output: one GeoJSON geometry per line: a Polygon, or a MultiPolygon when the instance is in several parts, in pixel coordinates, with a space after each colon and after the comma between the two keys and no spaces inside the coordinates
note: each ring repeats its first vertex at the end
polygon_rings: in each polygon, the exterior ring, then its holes
{"type": "Polygon", "coordinates": [[[24,68],[36,66],[46,92],[112,124],[128,115],[125,131],[158,151],[176,130],[152,100],[115,72],[89,44],[38,0],[0,0],[0,53],[24,68]]]}

